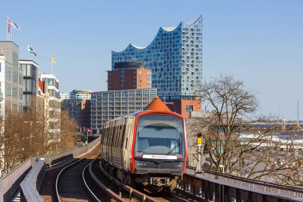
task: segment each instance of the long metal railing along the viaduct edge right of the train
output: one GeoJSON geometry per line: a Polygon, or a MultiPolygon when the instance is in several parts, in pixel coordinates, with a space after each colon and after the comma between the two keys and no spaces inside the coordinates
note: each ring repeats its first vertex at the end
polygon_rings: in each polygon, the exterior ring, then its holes
{"type": "Polygon", "coordinates": [[[220,173],[216,171],[211,171],[207,169],[202,169],[203,173],[195,174],[195,168],[187,167],[186,174],[197,178],[208,178],[213,179],[215,183],[228,183],[230,186],[234,187],[243,187],[247,190],[263,193],[266,195],[273,195],[273,196],[282,196],[290,199],[301,199],[303,198],[303,188],[296,187],[296,186],[288,186],[288,185],[281,185],[275,184],[271,182],[266,182],[262,180],[256,180],[246,177],[239,177],[235,175],[220,173]]]}

